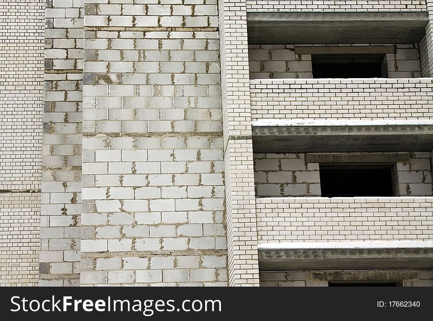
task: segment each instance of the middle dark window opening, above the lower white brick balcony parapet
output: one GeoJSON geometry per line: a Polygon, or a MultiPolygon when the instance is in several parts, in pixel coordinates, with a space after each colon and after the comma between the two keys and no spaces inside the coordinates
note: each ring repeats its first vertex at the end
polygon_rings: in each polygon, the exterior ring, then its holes
{"type": "Polygon", "coordinates": [[[320,165],[322,197],[395,196],[392,165],[320,165]]]}

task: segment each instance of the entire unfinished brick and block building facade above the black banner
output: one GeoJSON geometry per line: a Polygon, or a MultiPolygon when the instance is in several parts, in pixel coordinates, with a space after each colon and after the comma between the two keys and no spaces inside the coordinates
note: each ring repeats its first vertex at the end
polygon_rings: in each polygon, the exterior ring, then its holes
{"type": "Polygon", "coordinates": [[[12,2],[1,286],[433,285],[433,1],[12,2]]]}

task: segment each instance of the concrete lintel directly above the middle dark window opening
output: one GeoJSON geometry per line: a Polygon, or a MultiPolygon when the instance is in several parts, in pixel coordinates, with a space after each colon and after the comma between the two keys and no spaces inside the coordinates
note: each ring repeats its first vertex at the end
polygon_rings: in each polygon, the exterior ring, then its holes
{"type": "Polygon", "coordinates": [[[371,154],[328,154],[328,153],[307,153],[307,163],[398,163],[408,162],[409,153],[371,153],[371,154]]]}

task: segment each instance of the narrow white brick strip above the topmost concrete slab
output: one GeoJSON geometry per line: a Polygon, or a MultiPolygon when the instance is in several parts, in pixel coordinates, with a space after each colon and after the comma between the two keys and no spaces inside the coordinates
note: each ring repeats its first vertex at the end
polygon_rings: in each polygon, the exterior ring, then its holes
{"type": "Polygon", "coordinates": [[[247,11],[425,11],[425,0],[247,0],[247,11]]]}

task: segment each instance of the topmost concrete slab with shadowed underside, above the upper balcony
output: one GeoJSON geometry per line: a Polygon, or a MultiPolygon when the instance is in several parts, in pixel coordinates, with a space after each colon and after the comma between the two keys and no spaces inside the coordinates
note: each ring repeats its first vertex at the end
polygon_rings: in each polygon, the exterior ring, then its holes
{"type": "Polygon", "coordinates": [[[428,21],[424,11],[248,12],[248,43],[418,43],[428,21]]]}

